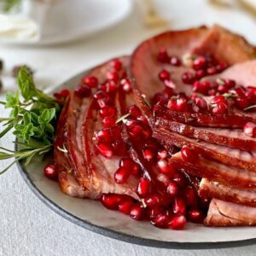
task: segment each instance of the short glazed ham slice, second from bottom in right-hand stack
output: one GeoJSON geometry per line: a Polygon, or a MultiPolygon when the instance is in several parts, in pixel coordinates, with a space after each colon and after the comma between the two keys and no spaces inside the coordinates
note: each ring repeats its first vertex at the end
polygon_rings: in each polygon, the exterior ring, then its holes
{"type": "Polygon", "coordinates": [[[217,198],[224,201],[231,201],[249,207],[256,207],[256,191],[248,189],[237,189],[222,183],[202,178],[199,194],[202,197],[217,198]]]}

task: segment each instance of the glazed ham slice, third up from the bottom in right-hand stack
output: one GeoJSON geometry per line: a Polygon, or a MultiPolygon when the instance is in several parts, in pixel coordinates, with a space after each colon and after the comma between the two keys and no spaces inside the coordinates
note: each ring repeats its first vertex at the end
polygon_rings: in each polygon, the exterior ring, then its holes
{"type": "Polygon", "coordinates": [[[181,153],[174,154],[170,159],[177,169],[183,169],[195,177],[206,177],[218,183],[224,183],[241,189],[256,189],[256,173],[225,166],[201,156],[195,163],[183,160],[181,153]]]}

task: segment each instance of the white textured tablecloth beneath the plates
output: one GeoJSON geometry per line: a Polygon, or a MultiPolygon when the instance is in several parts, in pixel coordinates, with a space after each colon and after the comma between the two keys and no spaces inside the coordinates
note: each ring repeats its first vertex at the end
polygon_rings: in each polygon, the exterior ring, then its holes
{"type": "MultiPolygon", "coordinates": [[[[198,26],[218,22],[241,32],[256,44],[256,25],[244,14],[216,13],[201,0],[156,1],[160,12],[172,19],[172,28],[198,26]],[[173,5],[176,2],[176,5],[173,5]],[[193,6],[191,6],[193,2],[193,6]],[[190,5],[189,5],[190,3],[190,5]],[[166,5],[167,4],[167,5],[166,5]],[[170,4],[172,4],[170,7],[170,4]],[[183,7],[183,6],[186,6],[183,7]],[[182,9],[183,8],[183,9],[182,9]],[[193,15],[193,10],[203,15],[193,15]],[[171,11],[173,10],[173,11],[171,11]],[[181,12],[183,10],[183,13],[181,12]],[[177,13],[182,13],[183,17],[177,13]],[[188,15],[186,15],[188,14],[188,15]],[[238,16],[240,18],[237,20],[238,16]],[[186,16],[186,17],[185,17],[186,16]],[[228,17],[228,19],[227,19],[228,17]],[[192,20],[192,21],[191,21],[192,20]],[[252,29],[254,26],[254,30],[252,29]]],[[[6,90],[15,90],[9,78],[11,67],[27,64],[36,71],[41,88],[55,86],[86,68],[113,56],[130,54],[144,38],[160,32],[143,26],[138,5],[132,15],[93,38],[50,47],[0,46],[0,58],[5,62],[2,79],[6,90]]],[[[0,109],[1,115],[5,112],[0,109]]],[[[1,139],[4,147],[11,146],[13,137],[1,139]]],[[[6,162],[0,162],[0,168],[6,162]]],[[[0,255],[255,255],[256,246],[184,251],[142,247],[94,234],[52,212],[26,186],[14,166],[0,178],[0,255]]]]}

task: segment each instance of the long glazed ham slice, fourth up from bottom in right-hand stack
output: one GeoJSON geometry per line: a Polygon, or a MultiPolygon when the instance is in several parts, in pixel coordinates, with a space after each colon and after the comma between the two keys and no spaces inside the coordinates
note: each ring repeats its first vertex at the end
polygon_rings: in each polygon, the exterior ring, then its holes
{"type": "Polygon", "coordinates": [[[153,137],[157,138],[163,145],[182,148],[187,145],[208,159],[217,160],[225,165],[235,166],[256,172],[256,151],[244,151],[235,148],[219,146],[213,143],[198,142],[189,137],[183,137],[165,129],[154,129],[153,137]]]}

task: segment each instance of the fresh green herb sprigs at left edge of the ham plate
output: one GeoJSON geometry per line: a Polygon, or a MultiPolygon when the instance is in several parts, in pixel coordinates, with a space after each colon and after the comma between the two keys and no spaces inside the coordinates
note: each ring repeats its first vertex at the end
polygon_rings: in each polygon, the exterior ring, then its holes
{"type": "Polygon", "coordinates": [[[49,152],[53,146],[57,114],[61,110],[54,97],[36,88],[26,67],[20,68],[17,82],[19,91],[7,93],[6,102],[0,102],[4,108],[11,110],[8,118],[0,118],[4,127],[0,138],[12,130],[22,149],[12,151],[0,148],[0,160],[15,158],[0,174],[18,160],[25,160],[28,164],[34,156],[49,152]]]}

